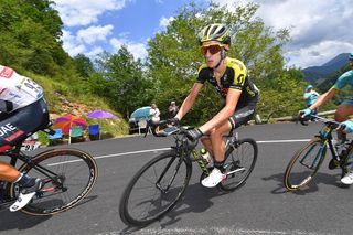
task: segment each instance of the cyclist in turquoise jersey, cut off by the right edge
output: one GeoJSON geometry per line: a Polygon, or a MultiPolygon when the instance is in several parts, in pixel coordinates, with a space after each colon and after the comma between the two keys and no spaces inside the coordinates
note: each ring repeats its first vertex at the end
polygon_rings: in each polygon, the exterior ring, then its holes
{"type": "MultiPolygon", "coordinates": [[[[334,85],[324,94],[320,95],[317,102],[314,102],[310,107],[300,110],[302,117],[312,114],[314,109],[330,100],[338,92],[340,92],[346,85],[353,85],[353,53],[349,55],[349,62],[351,70],[342,74],[334,85]]],[[[349,116],[353,115],[353,97],[349,99],[344,99],[336,108],[334,114],[334,119],[345,125],[345,129],[343,131],[338,131],[338,143],[343,145],[346,141],[346,132],[353,131],[353,124],[347,120],[349,116]]],[[[353,183],[353,172],[349,172],[345,174],[341,182],[344,184],[353,183]]]]}

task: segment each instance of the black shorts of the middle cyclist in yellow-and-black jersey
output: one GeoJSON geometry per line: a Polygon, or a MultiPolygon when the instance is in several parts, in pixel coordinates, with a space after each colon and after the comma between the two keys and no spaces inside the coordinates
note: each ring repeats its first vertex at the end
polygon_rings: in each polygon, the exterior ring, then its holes
{"type": "Polygon", "coordinates": [[[255,115],[257,102],[258,99],[256,97],[253,98],[249,103],[236,107],[234,115],[228,118],[228,121],[232,126],[231,131],[252,120],[255,115]]]}

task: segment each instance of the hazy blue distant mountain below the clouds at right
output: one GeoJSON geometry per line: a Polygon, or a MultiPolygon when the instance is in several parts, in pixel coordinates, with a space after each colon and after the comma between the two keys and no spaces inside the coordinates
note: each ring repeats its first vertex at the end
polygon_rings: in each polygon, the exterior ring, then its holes
{"type": "Polygon", "coordinates": [[[311,66],[302,70],[304,79],[310,82],[312,85],[320,84],[332,73],[339,71],[347,63],[349,54],[350,53],[342,53],[321,66],[311,66]]]}

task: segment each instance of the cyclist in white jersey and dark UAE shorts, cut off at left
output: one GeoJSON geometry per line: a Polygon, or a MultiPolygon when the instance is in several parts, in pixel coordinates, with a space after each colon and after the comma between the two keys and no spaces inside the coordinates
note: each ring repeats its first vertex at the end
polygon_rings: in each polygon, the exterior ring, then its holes
{"type": "MultiPolygon", "coordinates": [[[[42,87],[2,65],[0,65],[0,151],[11,149],[49,124],[49,111],[42,87]]],[[[21,189],[10,211],[25,206],[42,186],[41,179],[20,173],[11,164],[2,161],[0,161],[0,180],[17,183],[21,189]]]]}

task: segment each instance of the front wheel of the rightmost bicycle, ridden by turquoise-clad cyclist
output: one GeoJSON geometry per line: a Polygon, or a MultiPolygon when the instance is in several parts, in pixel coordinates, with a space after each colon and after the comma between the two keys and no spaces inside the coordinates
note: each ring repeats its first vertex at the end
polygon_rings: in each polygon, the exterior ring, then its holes
{"type": "Polygon", "coordinates": [[[285,188],[296,191],[313,180],[327,154],[327,145],[315,138],[302,146],[291,158],[284,175],[285,188]]]}

